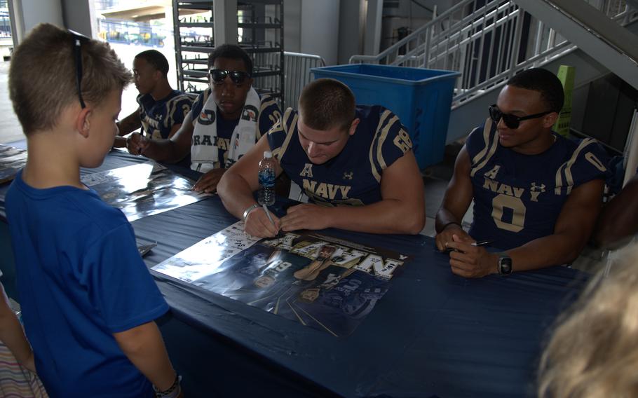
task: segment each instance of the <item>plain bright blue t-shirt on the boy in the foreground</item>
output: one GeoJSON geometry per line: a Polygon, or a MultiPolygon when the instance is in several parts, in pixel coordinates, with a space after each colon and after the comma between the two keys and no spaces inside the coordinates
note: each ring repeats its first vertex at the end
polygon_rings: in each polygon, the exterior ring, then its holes
{"type": "Polygon", "coordinates": [[[152,397],[113,334],[168,310],[123,213],[93,190],[36,189],[18,173],[6,195],[22,320],[51,397],[152,397]]]}

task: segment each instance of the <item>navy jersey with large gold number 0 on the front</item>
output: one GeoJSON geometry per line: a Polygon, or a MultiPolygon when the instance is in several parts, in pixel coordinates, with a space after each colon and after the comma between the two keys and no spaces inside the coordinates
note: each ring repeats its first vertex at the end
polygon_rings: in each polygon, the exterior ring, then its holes
{"type": "Polygon", "coordinates": [[[595,139],[555,142],[538,155],[523,155],[498,143],[496,125],[487,119],[466,142],[474,194],[470,235],[494,240],[501,249],[552,235],[569,194],[593,179],[605,179],[607,156],[595,139]]]}

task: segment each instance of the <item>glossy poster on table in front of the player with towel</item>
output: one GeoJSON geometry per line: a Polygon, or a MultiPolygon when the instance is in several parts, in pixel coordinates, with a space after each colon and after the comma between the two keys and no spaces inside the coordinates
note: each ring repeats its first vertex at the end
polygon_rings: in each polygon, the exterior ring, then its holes
{"type": "Polygon", "coordinates": [[[210,196],[192,191],[195,181],[154,162],[87,174],[83,184],[93,188],[109,205],[124,212],[128,221],[196,203],[210,196]]]}

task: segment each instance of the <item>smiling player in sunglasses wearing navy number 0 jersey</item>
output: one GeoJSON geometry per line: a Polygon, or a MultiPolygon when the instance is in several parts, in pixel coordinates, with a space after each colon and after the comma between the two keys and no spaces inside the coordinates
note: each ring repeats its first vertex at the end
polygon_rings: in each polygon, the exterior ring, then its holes
{"type": "Polygon", "coordinates": [[[513,76],[459,152],[436,215],[436,245],[464,277],[507,275],[570,263],[588,242],[600,210],[606,153],[594,139],[552,132],[564,94],[545,69],[513,76]],[[474,200],[468,233],[461,221],[474,200]],[[505,250],[471,245],[492,240],[505,250]]]}

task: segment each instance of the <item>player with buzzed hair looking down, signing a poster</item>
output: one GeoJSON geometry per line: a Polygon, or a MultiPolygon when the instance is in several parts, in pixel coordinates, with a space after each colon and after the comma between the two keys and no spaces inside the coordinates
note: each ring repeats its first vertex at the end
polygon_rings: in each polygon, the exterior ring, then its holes
{"type": "Polygon", "coordinates": [[[388,109],[355,105],[334,79],[306,85],[299,111],[279,123],[219,182],[226,209],[254,236],[297,229],[343,228],[370,233],[419,233],[425,223],[423,182],[405,128],[388,109]],[[271,223],[257,207],[257,169],[264,151],[308,195],[271,223]]]}

